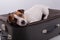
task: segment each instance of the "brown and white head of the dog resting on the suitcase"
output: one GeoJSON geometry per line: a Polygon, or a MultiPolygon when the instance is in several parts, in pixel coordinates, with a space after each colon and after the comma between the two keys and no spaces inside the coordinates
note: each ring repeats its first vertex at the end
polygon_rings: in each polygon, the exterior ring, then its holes
{"type": "Polygon", "coordinates": [[[20,10],[10,13],[8,16],[8,22],[16,23],[20,26],[25,26],[27,24],[27,21],[24,18],[24,10],[20,9],[20,10]]]}

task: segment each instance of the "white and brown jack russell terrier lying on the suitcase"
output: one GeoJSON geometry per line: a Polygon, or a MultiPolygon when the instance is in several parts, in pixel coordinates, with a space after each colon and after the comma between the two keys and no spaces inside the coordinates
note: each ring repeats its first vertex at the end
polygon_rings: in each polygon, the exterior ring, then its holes
{"type": "Polygon", "coordinates": [[[9,14],[8,21],[15,22],[20,26],[25,26],[27,23],[47,19],[49,15],[49,8],[44,5],[35,5],[32,8],[24,11],[23,9],[17,10],[16,12],[9,14]]]}

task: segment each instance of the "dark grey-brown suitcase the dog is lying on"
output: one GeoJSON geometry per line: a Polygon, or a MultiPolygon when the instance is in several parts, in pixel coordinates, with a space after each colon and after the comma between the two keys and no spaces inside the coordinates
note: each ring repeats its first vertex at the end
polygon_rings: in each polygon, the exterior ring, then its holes
{"type": "Polygon", "coordinates": [[[48,19],[20,27],[6,22],[7,16],[0,16],[0,26],[5,24],[2,40],[49,40],[60,35],[60,10],[49,9],[48,19]],[[10,36],[9,36],[10,35],[10,36]]]}

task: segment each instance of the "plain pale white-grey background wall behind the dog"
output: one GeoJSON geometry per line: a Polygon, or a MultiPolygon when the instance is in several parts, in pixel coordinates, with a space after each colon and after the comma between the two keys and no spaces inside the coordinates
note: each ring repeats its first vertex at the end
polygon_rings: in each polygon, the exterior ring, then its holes
{"type": "Polygon", "coordinates": [[[0,15],[17,9],[28,9],[35,4],[47,5],[50,8],[60,9],[59,0],[0,0],[0,15]]]}

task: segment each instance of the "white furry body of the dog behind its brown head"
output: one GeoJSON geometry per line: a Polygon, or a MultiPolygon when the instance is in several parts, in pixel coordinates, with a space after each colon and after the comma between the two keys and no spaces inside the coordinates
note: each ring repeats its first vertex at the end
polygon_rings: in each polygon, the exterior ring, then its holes
{"type": "Polygon", "coordinates": [[[47,19],[49,15],[48,7],[44,5],[35,5],[26,10],[24,16],[26,16],[25,18],[29,23],[32,23],[41,20],[43,13],[46,15],[44,19],[47,19]]]}

